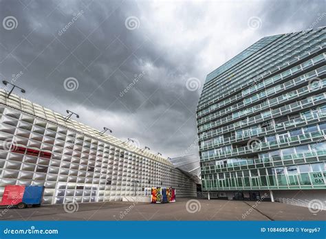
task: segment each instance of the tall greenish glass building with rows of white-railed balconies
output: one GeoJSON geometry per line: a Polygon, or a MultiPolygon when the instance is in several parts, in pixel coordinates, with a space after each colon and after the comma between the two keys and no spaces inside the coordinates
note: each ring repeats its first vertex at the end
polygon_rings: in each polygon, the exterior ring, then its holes
{"type": "Polygon", "coordinates": [[[208,74],[197,130],[210,197],[326,200],[325,34],[264,37],[208,74]]]}

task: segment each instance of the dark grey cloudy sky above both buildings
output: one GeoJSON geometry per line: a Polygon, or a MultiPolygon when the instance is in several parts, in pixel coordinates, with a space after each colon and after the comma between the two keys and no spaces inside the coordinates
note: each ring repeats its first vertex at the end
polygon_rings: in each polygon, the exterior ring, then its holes
{"type": "Polygon", "coordinates": [[[326,25],[323,0],[5,0],[0,19],[1,80],[21,72],[24,98],[164,157],[198,154],[210,71],[264,36],[326,25]]]}

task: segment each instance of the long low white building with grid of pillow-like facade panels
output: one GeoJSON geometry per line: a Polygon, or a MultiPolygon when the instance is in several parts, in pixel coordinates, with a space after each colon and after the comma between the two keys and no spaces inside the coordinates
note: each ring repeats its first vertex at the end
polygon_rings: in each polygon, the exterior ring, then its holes
{"type": "Polygon", "coordinates": [[[17,95],[0,91],[0,197],[43,185],[43,204],[120,201],[149,187],[196,196],[196,183],[154,155],[17,95]]]}

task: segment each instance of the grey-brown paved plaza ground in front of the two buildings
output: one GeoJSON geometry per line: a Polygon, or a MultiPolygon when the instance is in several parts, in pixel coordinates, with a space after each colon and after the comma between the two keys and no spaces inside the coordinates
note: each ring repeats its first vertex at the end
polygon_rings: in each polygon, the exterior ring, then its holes
{"type": "Polygon", "coordinates": [[[175,203],[80,203],[0,209],[0,220],[325,220],[326,211],[283,203],[177,198],[175,203]],[[254,205],[254,208],[252,207],[254,205]],[[75,206],[75,207],[73,207],[75,206]],[[76,211],[76,212],[73,212],[76,211]]]}

